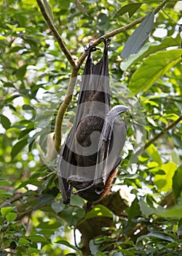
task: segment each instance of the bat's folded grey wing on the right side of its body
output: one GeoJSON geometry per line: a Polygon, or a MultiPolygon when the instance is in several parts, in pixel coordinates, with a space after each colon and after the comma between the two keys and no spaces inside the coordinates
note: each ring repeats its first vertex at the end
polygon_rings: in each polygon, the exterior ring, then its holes
{"type": "Polygon", "coordinates": [[[106,115],[103,130],[100,135],[97,165],[95,168],[95,185],[104,187],[106,179],[112,170],[121,162],[121,151],[126,140],[126,124],[116,117],[127,110],[127,107],[117,105],[106,115]]]}

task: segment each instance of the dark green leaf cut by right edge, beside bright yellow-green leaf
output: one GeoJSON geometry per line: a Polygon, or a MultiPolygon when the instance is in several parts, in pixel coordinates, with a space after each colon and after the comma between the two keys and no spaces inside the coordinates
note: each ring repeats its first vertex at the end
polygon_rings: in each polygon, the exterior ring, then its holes
{"type": "Polygon", "coordinates": [[[178,170],[176,170],[175,175],[173,176],[173,192],[176,200],[178,199],[178,197],[181,196],[181,192],[182,192],[181,177],[182,177],[182,165],[178,167],[178,170]]]}

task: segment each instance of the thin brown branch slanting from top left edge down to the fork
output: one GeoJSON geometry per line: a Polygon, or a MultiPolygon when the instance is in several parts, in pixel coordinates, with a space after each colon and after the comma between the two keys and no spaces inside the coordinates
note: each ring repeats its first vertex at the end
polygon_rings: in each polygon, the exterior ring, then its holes
{"type": "Polygon", "coordinates": [[[57,40],[60,49],[63,50],[64,55],[68,59],[69,64],[71,64],[72,69],[79,69],[78,64],[74,60],[74,58],[71,56],[71,53],[69,52],[68,48],[66,48],[66,44],[63,41],[62,37],[60,37],[60,34],[58,33],[58,30],[56,29],[55,25],[52,23],[52,20],[50,19],[49,15],[47,14],[44,4],[41,0],[36,0],[37,4],[39,5],[39,8],[41,10],[41,14],[44,17],[44,20],[47,22],[47,26],[52,31],[53,36],[57,40]]]}

